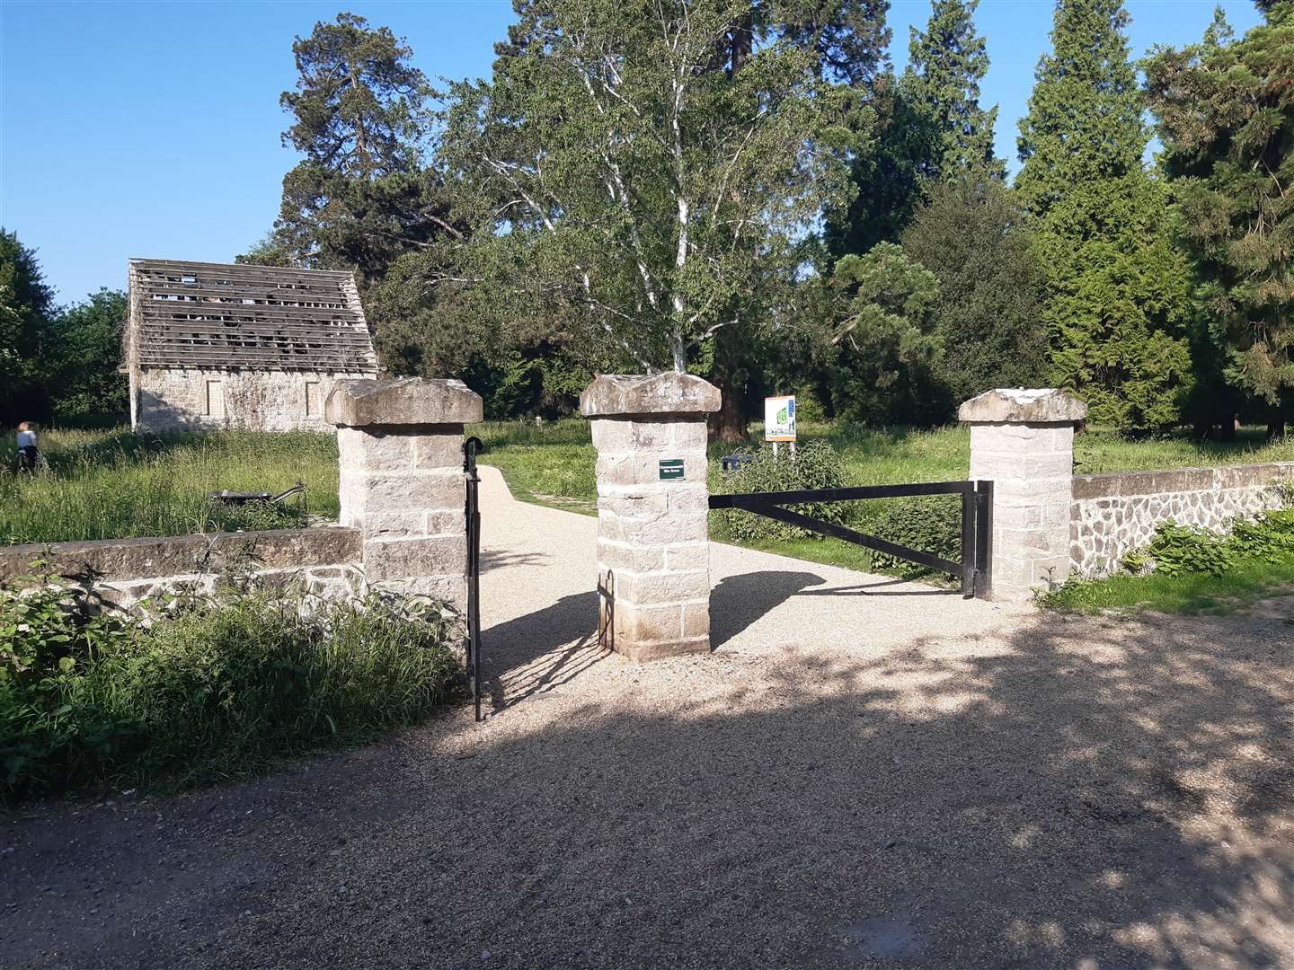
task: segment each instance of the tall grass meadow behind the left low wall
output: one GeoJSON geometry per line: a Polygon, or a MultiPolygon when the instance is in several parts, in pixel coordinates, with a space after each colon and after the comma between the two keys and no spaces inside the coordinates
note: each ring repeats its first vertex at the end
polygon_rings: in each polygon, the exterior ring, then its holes
{"type": "Polygon", "coordinates": [[[278,493],[298,481],[305,482],[309,512],[338,511],[331,433],[54,428],[41,433],[40,447],[48,467],[17,473],[13,436],[4,436],[0,543],[232,530],[250,524],[247,511],[212,502],[212,491],[278,493]]]}

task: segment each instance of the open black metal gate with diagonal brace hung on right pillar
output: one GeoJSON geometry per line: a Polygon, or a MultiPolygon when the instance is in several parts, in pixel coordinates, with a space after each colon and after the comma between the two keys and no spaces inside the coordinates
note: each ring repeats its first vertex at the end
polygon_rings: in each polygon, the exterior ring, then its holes
{"type": "Polygon", "coordinates": [[[965,596],[987,599],[992,586],[992,482],[932,481],[915,485],[859,485],[848,489],[805,489],[801,491],[747,491],[736,495],[710,495],[710,508],[743,508],[779,523],[798,525],[809,532],[832,535],[855,546],[864,546],[906,559],[941,573],[960,577],[965,596]],[[849,529],[835,523],[811,519],[784,506],[823,502],[853,502],[864,498],[902,498],[908,495],[961,495],[961,555],[954,563],[921,550],[899,546],[876,535],[849,529]]]}

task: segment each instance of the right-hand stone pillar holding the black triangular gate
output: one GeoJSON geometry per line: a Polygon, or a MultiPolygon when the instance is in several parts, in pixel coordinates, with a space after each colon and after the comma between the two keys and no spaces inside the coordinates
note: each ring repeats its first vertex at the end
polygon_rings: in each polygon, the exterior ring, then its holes
{"type": "Polygon", "coordinates": [[[992,599],[1025,601],[1069,576],[1074,424],[1062,391],[986,391],[961,405],[970,477],[992,480],[992,599]]]}

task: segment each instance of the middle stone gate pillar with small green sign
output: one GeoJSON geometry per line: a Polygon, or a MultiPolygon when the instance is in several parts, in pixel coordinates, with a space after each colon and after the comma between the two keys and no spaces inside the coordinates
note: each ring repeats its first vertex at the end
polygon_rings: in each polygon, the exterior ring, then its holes
{"type": "Polygon", "coordinates": [[[644,661],[710,649],[705,416],[688,374],[603,375],[580,396],[598,449],[602,641],[644,661]]]}

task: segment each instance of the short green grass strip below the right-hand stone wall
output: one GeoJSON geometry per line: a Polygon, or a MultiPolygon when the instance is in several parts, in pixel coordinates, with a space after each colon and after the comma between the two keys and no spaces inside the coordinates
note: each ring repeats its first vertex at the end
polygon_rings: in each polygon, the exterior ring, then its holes
{"type": "Polygon", "coordinates": [[[1268,596],[1294,592],[1294,557],[1278,563],[1242,559],[1224,576],[1117,574],[1070,582],[1042,603],[1078,613],[1225,613],[1268,596]]]}

